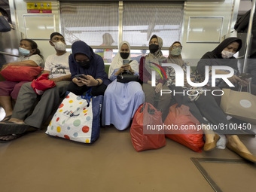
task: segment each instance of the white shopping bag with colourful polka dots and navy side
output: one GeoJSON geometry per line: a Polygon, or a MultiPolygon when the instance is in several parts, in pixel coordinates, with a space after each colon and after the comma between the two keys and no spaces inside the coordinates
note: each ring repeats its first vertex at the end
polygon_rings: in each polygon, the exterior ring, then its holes
{"type": "Polygon", "coordinates": [[[69,93],[53,115],[46,133],[75,142],[96,141],[99,138],[102,101],[103,96],[82,99],[82,96],[69,93]]]}

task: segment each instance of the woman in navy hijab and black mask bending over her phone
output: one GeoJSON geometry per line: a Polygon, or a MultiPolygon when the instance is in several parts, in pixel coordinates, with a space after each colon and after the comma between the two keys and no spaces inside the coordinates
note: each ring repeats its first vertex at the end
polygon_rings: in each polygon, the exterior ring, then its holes
{"type": "Polygon", "coordinates": [[[111,83],[105,72],[102,57],[94,53],[84,41],[75,41],[72,44],[69,68],[72,83],[69,84],[68,90],[75,95],[81,96],[90,88],[93,96],[104,95],[108,84],[111,83]]]}

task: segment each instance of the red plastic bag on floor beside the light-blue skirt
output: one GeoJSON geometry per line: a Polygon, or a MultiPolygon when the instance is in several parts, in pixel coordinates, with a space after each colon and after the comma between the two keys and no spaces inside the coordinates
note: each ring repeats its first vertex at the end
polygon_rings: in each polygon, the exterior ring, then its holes
{"type": "Polygon", "coordinates": [[[163,125],[162,113],[157,111],[157,109],[150,103],[145,103],[140,105],[136,111],[130,129],[133,147],[138,152],[147,149],[162,148],[166,145],[163,130],[145,130],[147,134],[143,133],[143,126],[144,129],[147,129],[148,125],[163,125]]]}

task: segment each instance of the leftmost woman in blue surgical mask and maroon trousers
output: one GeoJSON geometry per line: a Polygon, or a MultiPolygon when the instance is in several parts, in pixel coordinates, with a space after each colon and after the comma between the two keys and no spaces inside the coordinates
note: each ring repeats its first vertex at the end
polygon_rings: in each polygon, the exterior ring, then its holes
{"type": "MultiPolygon", "coordinates": [[[[2,66],[5,69],[8,66],[44,66],[44,60],[40,55],[38,44],[31,39],[20,40],[20,58],[16,62],[9,62],[2,66]]],[[[14,74],[15,75],[15,74],[14,74]]],[[[0,82],[0,105],[5,109],[5,118],[3,120],[9,120],[13,111],[11,99],[16,100],[20,87],[29,81],[1,81],[0,82]]]]}

